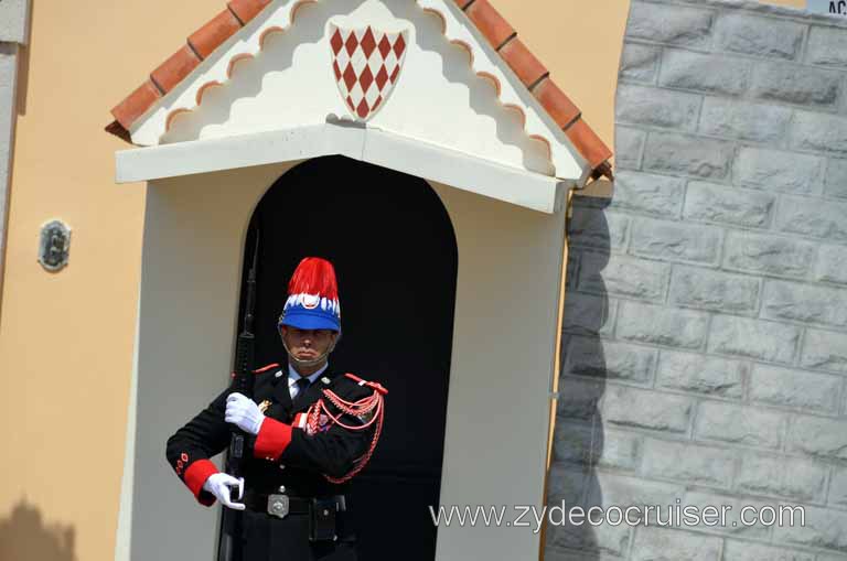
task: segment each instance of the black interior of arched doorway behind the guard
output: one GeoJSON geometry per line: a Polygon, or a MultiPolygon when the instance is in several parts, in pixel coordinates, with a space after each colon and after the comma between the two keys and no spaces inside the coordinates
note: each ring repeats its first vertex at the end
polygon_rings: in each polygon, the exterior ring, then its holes
{"type": "Polygon", "coordinates": [[[285,362],[276,323],[297,263],[331,260],[343,330],[331,364],[389,391],[379,445],[354,479],[360,559],[431,561],[458,267],[447,211],[419,177],[331,157],[280,177],[256,218],[256,364],[285,362]]]}

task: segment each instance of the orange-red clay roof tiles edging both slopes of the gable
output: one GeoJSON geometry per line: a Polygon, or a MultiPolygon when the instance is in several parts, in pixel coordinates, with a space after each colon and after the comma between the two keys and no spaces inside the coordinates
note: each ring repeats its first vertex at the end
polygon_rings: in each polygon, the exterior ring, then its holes
{"type": "MultiPolygon", "coordinates": [[[[225,10],[192,33],[185,45],[156,68],[144,83],[118,104],[115,122],[106,130],[129,140],[129,128],[162,96],[187,77],[227,39],[256,18],[271,0],[232,0],[225,10]]],[[[489,0],[453,0],[593,170],[592,176],[612,177],[612,151],[582,120],[579,108],[556,85],[549,72],[517,37],[517,33],[489,0]]]]}

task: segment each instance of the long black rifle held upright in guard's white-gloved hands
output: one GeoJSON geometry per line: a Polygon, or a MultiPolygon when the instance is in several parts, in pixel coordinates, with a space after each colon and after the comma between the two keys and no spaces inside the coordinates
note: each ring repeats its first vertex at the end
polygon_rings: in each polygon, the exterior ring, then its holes
{"type": "MultiPolygon", "coordinates": [[[[253,321],[256,308],[256,269],[259,263],[260,233],[257,224],[253,224],[251,229],[256,233],[256,240],[253,248],[253,263],[247,273],[244,323],[235,346],[235,366],[233,368],[233,373],[235,374],[233,391],[243,393],[248,398],[253,397],[254,389],[254,376],[251,370],[256,353],[256,337],[253,334],[253,321]]],[[[245,438],[246,435],[244,431],[233,428],[229,440],[229,453],[226,461],[226,472],[235,478],[239,478],[244,475],[243,462],[245,438]]],[[[239,497],[239,500],[240,498],[243,497],[239,497]]],[[[237,561],[234,557],[233,541],[240,533],[240,516],[236,516],[239,513],[228,508],[223,509],[222,531],[218,542],[218,559],[221,561],[237,561]]]]}

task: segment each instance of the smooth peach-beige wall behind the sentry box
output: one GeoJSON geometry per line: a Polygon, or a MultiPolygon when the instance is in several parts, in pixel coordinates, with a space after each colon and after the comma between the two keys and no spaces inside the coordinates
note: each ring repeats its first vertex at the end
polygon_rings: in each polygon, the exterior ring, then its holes
{"type": "MultiPolygon", "coordinates": [[[[494,3],[611,144],[628,1],[494,3]]],[[[0,317],[0,560],[112,558],[143,192],[114,185],[112,153],[125,145],[101,129],[108,109],[222,7],[34,2],[0,317]],[[57,274],[36,262],[51,218],[74,229],[57,274]]]]}

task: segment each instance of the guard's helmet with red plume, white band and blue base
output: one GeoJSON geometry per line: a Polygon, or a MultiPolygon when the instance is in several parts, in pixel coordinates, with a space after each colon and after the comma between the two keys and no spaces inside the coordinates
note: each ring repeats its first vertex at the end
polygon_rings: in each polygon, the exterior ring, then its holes
{"type": "Polygon", "coordinates": [[[341,333],[339,285],[331,262],[320,257],[300,261],[288,283],[288,300],[277,328],[282,325],[341,333]]]}

